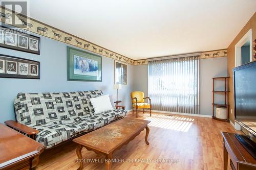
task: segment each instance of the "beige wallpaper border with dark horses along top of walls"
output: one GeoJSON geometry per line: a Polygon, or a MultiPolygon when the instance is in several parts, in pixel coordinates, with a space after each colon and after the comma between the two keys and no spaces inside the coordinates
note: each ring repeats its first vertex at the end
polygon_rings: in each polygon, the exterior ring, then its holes
{"type": "MultiPolygon", "coordinates": [[[[84,40],[72,34],[69,34],[65,31],[59,30],[52,26],[47,25],[46,23],[40,22],[36,19],[24,16],[22,14],[15,14],[13,11],[9,9],[5,9],[4,7],[0,6],[1,12],[1,22],[5,23],[6,25],[12,25],[12,18],[15,16],[15,21],[19,21],[20,29],[24,29],[35,34],[39,34],[41,36],[45,36],[57,41],[61,41],[67,43],[69,45],[74,45],[76,47],[82,48],[87,51],[91,51],[93,53],[99,54],[101,56],[109,57],[117,61],[122,61],[127,64],[131,65],[145,65],[147,64],[147,59],[141,60],[133,60],[129,57],[125,57],[118,53],[115,53],[111,50],[108,50],[104,47],[96,45],[90,41],[84,40]],[[2,11],[5,10],[5,13],[2,11]],[[24,19],[27,18],[25,21],[24,19]]],[[[14,26],[16,27],[16,26],[14,26]]],[[[207,58],[214,58],[214,57],[227,57],[227,50],[214,50],[214,51],[207,51],[202,52],[200,59],[207,59],[207,58]]]]}

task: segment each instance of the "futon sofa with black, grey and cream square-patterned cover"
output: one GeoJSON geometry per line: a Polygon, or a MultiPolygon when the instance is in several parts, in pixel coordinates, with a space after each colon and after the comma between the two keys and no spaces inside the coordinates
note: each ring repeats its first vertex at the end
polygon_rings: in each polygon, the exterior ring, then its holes
{"type": "MultiPolygon", "coordinates": [[[[94,114],[90,98],[102,94],[99,90],[18,93],[14,101],[16,122],[38,130],[36,141],[49,149],[62,141],[126,116],[127,111],[117,109],[94,114]]],[[[13,127],[8,121],[6,124],[13,127]]]]}

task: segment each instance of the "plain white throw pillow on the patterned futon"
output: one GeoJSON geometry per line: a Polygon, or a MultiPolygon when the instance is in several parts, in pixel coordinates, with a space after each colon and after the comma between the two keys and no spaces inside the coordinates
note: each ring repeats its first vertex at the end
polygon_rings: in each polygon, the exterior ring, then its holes
{"type": "Polygon", "coordinates": [[[90,101],[94,108],[94,114],[98,114],[108,110],[114,110],[110,102],[109,94],[101,95],[97,98],[91,98],[90,101]]]}

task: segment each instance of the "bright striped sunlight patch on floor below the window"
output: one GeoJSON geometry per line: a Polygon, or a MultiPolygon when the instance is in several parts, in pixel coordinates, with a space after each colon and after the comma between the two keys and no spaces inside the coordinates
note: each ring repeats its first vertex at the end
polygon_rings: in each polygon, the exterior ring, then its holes
{"type": "Polygon", "coordinates": [[[148,116],[145,120],[150,120],[148,126],[157,128],[170,129],[175,131],[187,132],[193,124],[194,118],[171,116],[164,114],[144,114],[148,116]]]}

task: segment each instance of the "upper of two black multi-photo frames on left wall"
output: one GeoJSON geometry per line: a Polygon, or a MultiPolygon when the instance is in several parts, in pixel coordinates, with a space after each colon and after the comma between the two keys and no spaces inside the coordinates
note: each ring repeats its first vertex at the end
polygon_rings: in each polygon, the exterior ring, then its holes
{"type": "Polygon", "coordinates": [[[25,30],[19,28],[0,28],[0,47],[40,55],[40,37],[27,34],[25,30]]]}

